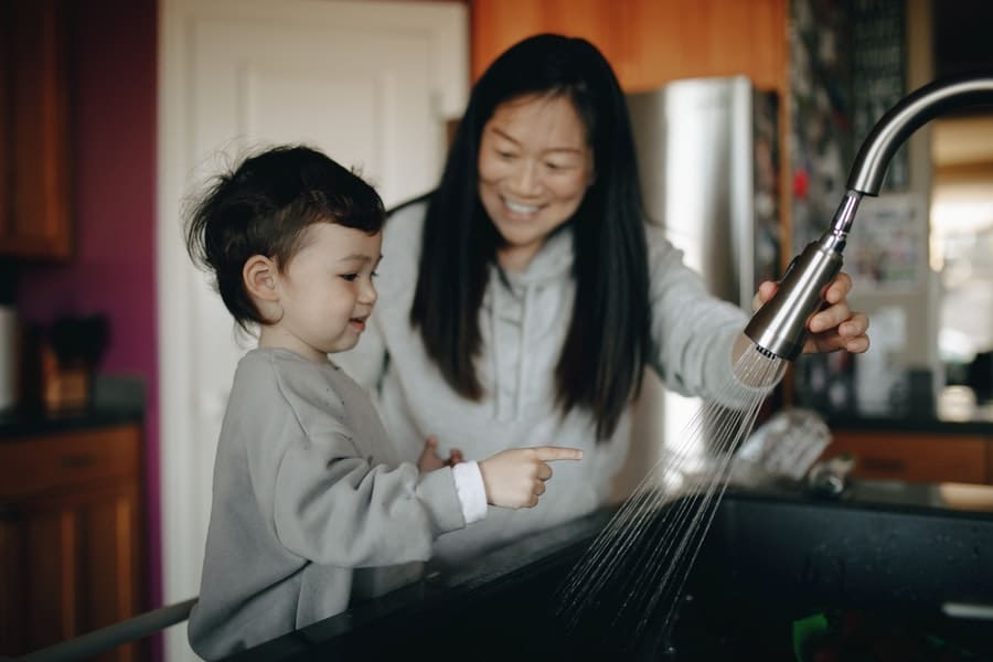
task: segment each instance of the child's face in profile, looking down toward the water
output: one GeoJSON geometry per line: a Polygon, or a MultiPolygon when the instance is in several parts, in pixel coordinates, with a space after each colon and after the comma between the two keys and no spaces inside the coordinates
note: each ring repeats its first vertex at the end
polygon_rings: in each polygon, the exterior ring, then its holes
{"type": "Polygon", "coordinates": [[[376,302],[373,276],[383,235],[316,223],[302,249],[277,275],[282,317],[261,328],[260,344],[312,361],[355,346],[376,302]]]}

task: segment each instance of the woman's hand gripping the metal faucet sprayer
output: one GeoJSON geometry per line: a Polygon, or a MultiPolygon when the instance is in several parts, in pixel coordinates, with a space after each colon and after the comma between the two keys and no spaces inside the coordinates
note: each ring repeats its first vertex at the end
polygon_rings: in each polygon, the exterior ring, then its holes
{"type": "MultiPolygon", "coordinates": [[[[779,285],[767,280],[759,286],[755,296],[754,308],[758,310],[769,301],[779,285]]],[[[808,354],[845,350],[861,354],[869,346],[868,317],[848,308],[848,292],[852,291],[852,277],[842,271],[831,281],[824,292],[828,306],[810,318],[809,331],[803,351],[808,354]]]]}

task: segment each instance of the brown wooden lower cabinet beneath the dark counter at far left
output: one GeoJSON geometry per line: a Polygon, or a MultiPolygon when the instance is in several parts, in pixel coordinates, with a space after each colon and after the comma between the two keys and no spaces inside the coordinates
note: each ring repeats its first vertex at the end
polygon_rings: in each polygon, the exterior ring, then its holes
{"type": "Polygon", "coordinates": [[[0,656],[143,610],[141,457],[137,425],[0,440],[0,656]]]}

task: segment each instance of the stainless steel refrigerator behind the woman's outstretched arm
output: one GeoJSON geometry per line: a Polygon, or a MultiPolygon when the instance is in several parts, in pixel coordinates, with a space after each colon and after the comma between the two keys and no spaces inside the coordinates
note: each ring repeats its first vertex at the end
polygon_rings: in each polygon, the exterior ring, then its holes
{"type": "MultiPolygon", "coordinates": [[[[675,81],[627,100],[649,216],[711,293],[750,313],[758,284],[779,275],[776,93],[729,76],[675,81]]],[[[685,447],[702,405],[668,392],[647,372],[615,500],[629,496],[666,451],[685,447]]],[[[694,457],[681,462],[691,470],[711,451],[706,434],[696,437],[694,457]]]]}

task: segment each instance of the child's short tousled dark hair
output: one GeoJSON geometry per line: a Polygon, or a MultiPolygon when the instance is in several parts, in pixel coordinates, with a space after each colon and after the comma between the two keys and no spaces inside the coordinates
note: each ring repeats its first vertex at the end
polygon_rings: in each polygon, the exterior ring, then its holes
{"type": "Polygon", "coordinates": [[[245,289],[242,270],[253,255],[285,269],[303,231],[335,223],[373,235],[386,212],[357,174],[316,149],[279,146],[217,175],[186,218],[186,250],[211,271],[224,305],[243,329],[265,323],[245,289]]]}

